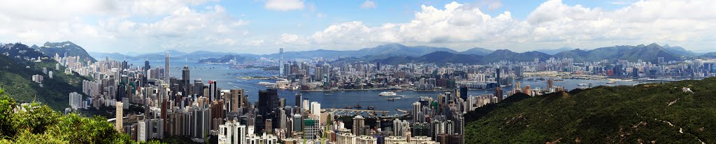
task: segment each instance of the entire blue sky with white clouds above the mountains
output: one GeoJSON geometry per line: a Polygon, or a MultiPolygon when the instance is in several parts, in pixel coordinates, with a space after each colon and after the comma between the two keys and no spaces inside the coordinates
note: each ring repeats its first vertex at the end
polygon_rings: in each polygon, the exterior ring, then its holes
{"type": "Polygon", "coordinates": [[[659,43],[716,51],[710,0],[1,1],[0,43],[276,53],[386,43],[533,51],[659,43]]]}

